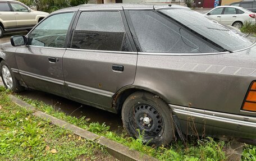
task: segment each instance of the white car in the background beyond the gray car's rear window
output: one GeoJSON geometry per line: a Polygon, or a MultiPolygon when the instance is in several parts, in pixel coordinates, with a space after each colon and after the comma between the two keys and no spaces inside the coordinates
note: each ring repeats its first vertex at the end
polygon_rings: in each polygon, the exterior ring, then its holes
{"type": "Polygon", "coordinates": [[[218,6],[205,13],[207,17],[222,25],[231,25],[240,29],[246,21],[255,24],[255,13],[237,6],[218,6]]]}

